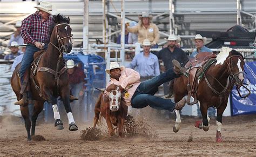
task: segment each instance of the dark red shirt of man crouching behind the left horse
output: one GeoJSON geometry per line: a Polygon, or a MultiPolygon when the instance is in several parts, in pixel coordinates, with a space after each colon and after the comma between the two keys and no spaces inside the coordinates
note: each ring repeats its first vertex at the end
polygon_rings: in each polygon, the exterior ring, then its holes
{"type": "MultiPolygon", "coordinates": [[[[72,74],[69,74],[69,83],[70,84],[79,84],[79,83],[84,83],[86,84],[86,80],[84,80],[84,78],[86,78],[83,70],[81,70],[79,67],[74,67],[74,72],[72,74]]],[[[85,89],[86,86],[83,86],[83,88],[85,89]]]]}

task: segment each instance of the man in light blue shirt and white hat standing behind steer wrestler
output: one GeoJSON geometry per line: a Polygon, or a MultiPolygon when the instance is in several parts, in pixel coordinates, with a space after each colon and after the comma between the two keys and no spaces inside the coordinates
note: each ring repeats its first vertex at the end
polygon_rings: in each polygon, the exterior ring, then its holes
{"type": "Polygon", "coordinates": [[[140,75],[140,81],[151,79],[160,74],[158,58],[150,52],[151,43],[149,39],[145,39],[142,45],[143,52],[137,54],[127,66],[131,69],[136,67],[136,71],[140,75]]]}

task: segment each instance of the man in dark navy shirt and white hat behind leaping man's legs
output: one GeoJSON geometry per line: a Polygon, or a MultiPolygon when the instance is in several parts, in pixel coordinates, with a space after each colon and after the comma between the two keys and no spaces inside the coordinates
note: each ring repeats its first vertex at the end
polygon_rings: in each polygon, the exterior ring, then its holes
{"type": "MultiPolygon", "coordinates": [[[[171,62],[171,60],[173,59],[178,60],[181,66],[185,66],[185,64],[188,62],[188,57],[186,56],[186,53],[176,46],[176,44],[179,42],[179,37],[175,35],[170,35],[167,39],[168,46],[156,53],[158,59],[161,59],[164,62],[164,71],[173,68],[173,64],[171,62]]],[[[164,83],[165,95],[169,93],[170,95],[172,95],[172,86],[173,80],[170,82],[170,88],[168,87],[168,83],[164,83]]]]}

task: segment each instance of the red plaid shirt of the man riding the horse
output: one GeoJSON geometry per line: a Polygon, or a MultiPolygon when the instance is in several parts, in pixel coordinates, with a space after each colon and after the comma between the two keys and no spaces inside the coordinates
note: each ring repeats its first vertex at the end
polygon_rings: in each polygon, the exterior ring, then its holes
{"type": "Polygon", "coordinates": [[[53,23],[53,17],[42,22],[42,16],[37,11],[22,21],[22,38],[25,44],[35,44],[35,42],[49,43],[49,26],[53,23]]]}

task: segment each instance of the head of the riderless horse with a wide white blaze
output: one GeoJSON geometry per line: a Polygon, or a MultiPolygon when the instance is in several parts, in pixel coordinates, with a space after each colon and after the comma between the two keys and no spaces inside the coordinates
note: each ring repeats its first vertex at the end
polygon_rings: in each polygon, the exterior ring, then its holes
{"type": "Polygon", "coordinates": [[[235,85],[240,87],[244,82],[244,57],[238,51],[232,50],[226,60],[230,77],[235,80],[235,85]]]}

